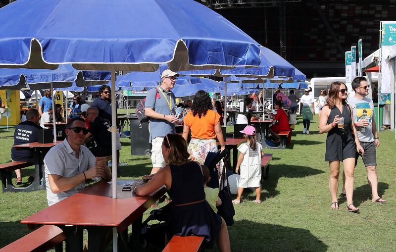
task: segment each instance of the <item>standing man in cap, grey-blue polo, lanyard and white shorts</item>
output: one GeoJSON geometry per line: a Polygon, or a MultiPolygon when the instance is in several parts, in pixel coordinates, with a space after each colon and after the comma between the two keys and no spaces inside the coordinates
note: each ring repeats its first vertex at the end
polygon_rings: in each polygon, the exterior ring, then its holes
{"type": "Polygon", "coordinates": [[[162,141],[166,134],[175,133],[175,95],[170,91],[175,87],[179,74],[167,69],[161,74],[161,86],[150,89],[145,103],[146,116],[150,117],[151,174],[165,166],[162,156],[162,141]]]}

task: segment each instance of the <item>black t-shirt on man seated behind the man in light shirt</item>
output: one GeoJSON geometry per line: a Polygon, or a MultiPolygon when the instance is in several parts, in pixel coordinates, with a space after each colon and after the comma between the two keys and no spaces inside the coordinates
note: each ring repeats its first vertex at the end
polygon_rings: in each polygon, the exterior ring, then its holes
{"type": "Polygon", "coordinates": [[[89,132],[94,135],[97,145],[96,156],[111,155],[111,132],[110,125],[106,120],[97,116],[90,124],[89,132]]]}

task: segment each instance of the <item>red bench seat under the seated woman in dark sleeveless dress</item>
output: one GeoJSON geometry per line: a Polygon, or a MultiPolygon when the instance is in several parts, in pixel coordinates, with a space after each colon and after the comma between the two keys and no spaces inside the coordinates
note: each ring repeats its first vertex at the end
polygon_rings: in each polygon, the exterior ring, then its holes
{"type": "Polygon", "coordinates": [[[173,236],[162,252],[199,252],[203,249],[201,236],[173,236]]]}

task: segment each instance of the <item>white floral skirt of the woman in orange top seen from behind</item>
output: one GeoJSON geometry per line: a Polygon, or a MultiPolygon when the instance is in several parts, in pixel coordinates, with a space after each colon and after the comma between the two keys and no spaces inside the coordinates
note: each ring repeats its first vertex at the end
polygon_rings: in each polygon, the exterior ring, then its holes
{"type": "MultiPolygon", "coordinates": [[[[219,150],[217,149],[216,139],[193,138],[190,141],[187,151],[190,153],[191,160],[204,164],[208,152],[218,152],[219,150]]],[[[220,178],[223,171],[223,160],[217,163],[216,167],[220,178]]]]}

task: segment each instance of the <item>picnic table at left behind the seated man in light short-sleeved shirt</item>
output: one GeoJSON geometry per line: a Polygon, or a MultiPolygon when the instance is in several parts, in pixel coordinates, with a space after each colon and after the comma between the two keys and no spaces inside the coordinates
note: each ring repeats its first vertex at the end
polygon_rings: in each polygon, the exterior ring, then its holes
{"type": "Polygon", "coordinates": [[[45,189],[46,188],[46,181],[45,181],[45,175],[44,175],[44,156],[47,154],[49,149],[51,149],[53,146],[63,143],[63,141],[56,141],[54,143],[48,143],[48,144],[40,144],[39,142],[33,142],[33,143],[28,143],[28,144],[22,144],[22,145],[14,145],[13,147],[16,149],[30,149],[33,148],[33,163],[35,166],[35,177],[34,181],[32,184],[30,184],[27,187],[20,188],[18,187],[18,191],[25,191],[25,192],[30,192],[30,191],[35,191],[35,190],[40,190],[40,189],[45,189]],[[42,183],[40,182],[42,180],[42,183]]]}

